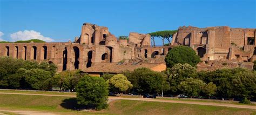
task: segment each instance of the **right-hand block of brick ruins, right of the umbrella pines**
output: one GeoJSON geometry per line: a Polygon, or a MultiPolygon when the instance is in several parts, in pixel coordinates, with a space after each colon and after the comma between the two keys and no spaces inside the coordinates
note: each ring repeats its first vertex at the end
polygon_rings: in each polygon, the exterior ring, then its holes
{"type": "MultiPolygon", "coordinates": [[[[228,26],[208,28],[182,26],[173,35],[171,46],[190,46],[197,52],[201,60],[210,61],[212,63],[210,66],[215,66],[217,69],[219,69],[221,64],[217,64],[213,60],[219,60],[223,63],[235,62],[237,65],[251,68],[252,63],[242,62],[253,62],[256,60],[255,35],[255,29],[230,28],[228,26]]],[[[201,65],[206,67],[204,65],[209,64],[201,65]]]]}

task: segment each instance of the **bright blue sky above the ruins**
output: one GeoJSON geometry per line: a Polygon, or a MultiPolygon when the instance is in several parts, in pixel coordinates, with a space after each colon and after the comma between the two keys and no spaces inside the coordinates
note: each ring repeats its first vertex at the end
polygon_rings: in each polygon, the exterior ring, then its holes
{"type": "Polygon", "coordinates": [[[80,36],[84,22],[107,26],[117,37],[129,32],[176,30],[183,25],[256,28],[255,8],[255,0],[0,0],[0,39],[32,36],[73,41],[80,36]]]}

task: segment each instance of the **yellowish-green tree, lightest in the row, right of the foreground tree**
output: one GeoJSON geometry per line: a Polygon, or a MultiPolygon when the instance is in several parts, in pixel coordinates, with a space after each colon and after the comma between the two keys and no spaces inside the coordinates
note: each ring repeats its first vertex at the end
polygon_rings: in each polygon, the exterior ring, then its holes
{"type": "Polygon", "coordinates": [[[122,74],[114,75],[110,78],[108,82],[109,84],[116,87],[119,91],[121,91],[120,96],[122,96],[124,91],[131,89],[133,87],[131,82],[127,80],[127,78],[122,74]]]}

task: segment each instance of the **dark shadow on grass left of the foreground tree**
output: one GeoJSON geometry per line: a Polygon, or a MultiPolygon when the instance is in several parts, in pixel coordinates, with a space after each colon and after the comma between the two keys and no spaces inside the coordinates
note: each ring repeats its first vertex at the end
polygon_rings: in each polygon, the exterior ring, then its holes
{"type": "Polygon", "coordinates": [[[80,108],[80,106],[77,104],[76,98],[69,98],[62,100],[62,103],[60,104],[65,109],[69,110],[77,110],[80,108]]]}

